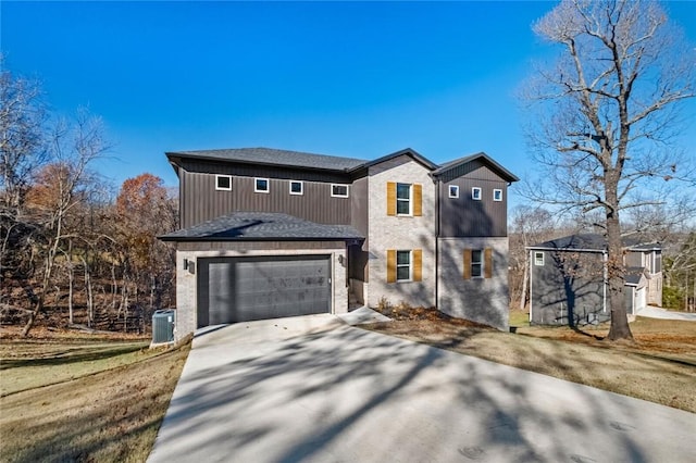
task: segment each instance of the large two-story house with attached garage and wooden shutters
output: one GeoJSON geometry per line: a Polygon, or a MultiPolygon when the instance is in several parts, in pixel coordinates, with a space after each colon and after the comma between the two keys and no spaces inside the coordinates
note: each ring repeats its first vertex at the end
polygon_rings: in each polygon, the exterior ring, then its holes
{"type": "Polygon", "coordinates": [[[179,178],[177,337],[349,301],[508,327],[507,188],[484,153],[437,165],[266,148],[167,152],[179,178]]]}

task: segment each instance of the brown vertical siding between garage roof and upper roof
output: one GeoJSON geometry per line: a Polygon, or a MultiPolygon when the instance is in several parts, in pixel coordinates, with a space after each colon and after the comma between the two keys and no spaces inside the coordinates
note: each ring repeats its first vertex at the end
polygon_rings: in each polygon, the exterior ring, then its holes
{"type": "Polygon", "coordinates": [[[233,176],[232,191],[215,189],[215,174],[182,170],[179,178],[183,228],[233,212],[277,212],[320,224],[350,224],[351,200],[332,197],[332,183],[301,180],[303,193],[290,195],[290,179],[263,174],[233,176]],[[254,178],[269,178],[269,192],[256,192],[254,178]]]}

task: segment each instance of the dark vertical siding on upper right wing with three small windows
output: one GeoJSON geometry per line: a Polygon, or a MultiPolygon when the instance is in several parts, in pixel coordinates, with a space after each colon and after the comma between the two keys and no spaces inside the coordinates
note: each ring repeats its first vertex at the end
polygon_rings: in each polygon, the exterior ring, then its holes
{"type": "Polygon", "coordinates": [[[508,183],[487,166],[468,172],[462,177],[440,177],[439,236],[506,237],[508,236],[508,183]],[[449,186],[459,187],[459,198],[449,197],[449,186]],[[481,188],[482,199],[471,197],[472,188],[481,188]],[[493,200],[493,190],[502,190],[502,201],[493,200]]]}

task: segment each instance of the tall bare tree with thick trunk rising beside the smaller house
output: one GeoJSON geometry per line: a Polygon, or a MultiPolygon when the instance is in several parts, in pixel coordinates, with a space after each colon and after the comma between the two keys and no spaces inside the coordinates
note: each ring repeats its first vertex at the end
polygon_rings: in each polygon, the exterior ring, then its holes
{"type": "Polygon", "coordinates": [[[550,180],[538,201],[601,211],[608,247],[609,339],[632,339],[623,300],[623,210],[662,204],[666,185],[693,179],[675,148],[694,97],[695,51],[661,7],[641,0],[564,0],[534,24],[562,50],[526,90],[527,129],[550,180]]]}

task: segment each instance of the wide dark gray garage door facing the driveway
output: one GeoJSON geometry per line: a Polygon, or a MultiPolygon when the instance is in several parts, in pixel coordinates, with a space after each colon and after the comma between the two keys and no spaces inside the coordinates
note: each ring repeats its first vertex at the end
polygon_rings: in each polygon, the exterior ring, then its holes
{"type": "Polygon", "coordinates": [[[328,255],[198,260],[198,327],[331,312],[328,255]]]}

